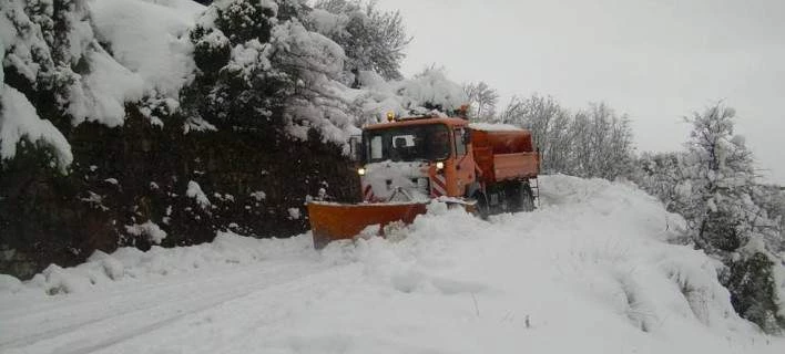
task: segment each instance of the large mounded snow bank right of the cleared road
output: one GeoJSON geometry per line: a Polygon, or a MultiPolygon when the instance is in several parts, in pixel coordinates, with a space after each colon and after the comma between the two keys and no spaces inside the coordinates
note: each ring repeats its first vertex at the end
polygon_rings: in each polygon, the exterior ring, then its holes
{"type": "Polygon", "coordinates": [[[753,346],[750,337],[758,331],[734,313],[715,262],[665,241],[683,227],[679,216],[632,186],[565,176],[540,183],[543,206],[532,214],[502,215],[488,223],[444,208],[388,232],[394,241],[328,246],[325,261],[354,268],[359,284],[341,284],[353,288],[323,299],[333,306],[295,316],[300,321],[294,326],[315,339],[324,323],[312,325],[310,316],[338,319],[338,327],[387,319],[395,325],[370,324],[349,342],[361,346],[364,335],[371,335],[370,342],[394,343],[397,350],[408,343],[466,353],[753,346]],[[351,306],[389,310],[341,315],[351,306]],[[410,331],[401,335],[407,341],[379,334],[398,325],[410,331]],[[414,334],[418,331],[427,335],[414,334]]]}

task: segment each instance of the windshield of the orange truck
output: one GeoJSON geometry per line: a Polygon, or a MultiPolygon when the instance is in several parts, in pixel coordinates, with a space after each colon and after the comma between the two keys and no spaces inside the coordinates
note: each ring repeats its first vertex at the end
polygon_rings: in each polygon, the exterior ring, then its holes
{"type": "Polygon", "coordinates": [[[449,129],[444,124],[410,125],[366,131],[365,160],[441,160],[450,155],[449,129]]]}

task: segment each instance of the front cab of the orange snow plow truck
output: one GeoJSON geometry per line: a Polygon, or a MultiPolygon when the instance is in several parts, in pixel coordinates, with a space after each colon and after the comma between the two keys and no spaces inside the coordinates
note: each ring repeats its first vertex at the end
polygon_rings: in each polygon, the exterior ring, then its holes
{"type": "Polygon", "coordinates": [[[439,117],[398,119],[364,128],[363,167],[358,170],[363,200],[466,196],[477,181],[467,126],[465,119],[439,117]]]}

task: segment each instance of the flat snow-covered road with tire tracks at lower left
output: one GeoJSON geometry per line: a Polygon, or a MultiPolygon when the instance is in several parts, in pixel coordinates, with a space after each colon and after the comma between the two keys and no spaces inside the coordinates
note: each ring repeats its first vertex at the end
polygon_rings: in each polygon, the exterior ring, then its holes
{"type": "MultiPolygon", "coordinates": [[[[187,317],[259,293],[273,293],[317,272],[314,264],[235,267],[126,284],[100,293],[4,302],[0,347],[35,353],[91,353],[161,331],[187,317]]],[[[112,350],[108,353],[113,352],[112,350]]]]}

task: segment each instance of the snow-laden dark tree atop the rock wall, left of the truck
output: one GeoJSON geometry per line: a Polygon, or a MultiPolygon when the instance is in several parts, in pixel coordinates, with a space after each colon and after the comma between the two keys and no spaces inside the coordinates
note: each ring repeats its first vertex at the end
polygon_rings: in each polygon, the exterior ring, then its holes
{"type": "Polygon", "coordinates": [[[298,19],[298,1],[213,4],[192,31],[201,70],[187,88],[190,127],[261,128],[343,144],[355,132],[339,82],[344,51],[298,19]],[[285,10],[285,13],[282,12],[285,10]]]}

